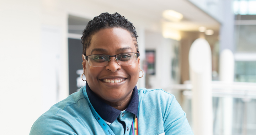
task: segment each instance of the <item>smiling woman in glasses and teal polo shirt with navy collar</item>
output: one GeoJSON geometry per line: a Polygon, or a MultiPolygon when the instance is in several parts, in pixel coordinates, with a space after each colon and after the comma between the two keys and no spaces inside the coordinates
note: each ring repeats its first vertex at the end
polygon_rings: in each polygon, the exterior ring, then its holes
{"type": "Polygon", "coordinates": [[[193,135],[173,95],[136,87],[140,59],[135,27],[118,13],[86,26],[86,86],[39,117],[31,135],[193,135]]]}

